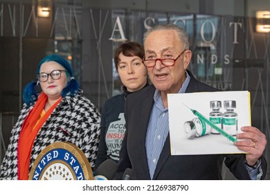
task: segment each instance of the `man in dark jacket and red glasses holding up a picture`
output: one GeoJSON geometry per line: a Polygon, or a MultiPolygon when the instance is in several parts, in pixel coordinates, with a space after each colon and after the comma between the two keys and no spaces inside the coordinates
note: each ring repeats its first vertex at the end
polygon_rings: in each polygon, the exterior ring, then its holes
{"type": "Polygon", "coordinates": [[[145,58],[152,85],[129,95],[125,105],[126,133],[116,179],[132,168],[133,179],[222,179],[222,164],[237,179],[264,179],[265,135],[242,127],[235,146],[242,155],[170,155],[167,94],[217,91],[187,70],[192,56],[188,35],[174,24],[154,26],[144,35],[145,58]]]}

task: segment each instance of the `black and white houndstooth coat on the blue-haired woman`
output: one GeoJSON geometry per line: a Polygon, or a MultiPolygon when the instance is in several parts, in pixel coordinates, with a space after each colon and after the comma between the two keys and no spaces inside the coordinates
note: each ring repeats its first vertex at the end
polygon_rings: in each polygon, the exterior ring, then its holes
{"type": "MultiPolygon", "coordinates": [[[[21,125],[33,106],[24,104],[16,125],[13,127],[10,144],[1,164],[0,179],[18,179],[18,139],[21,125]]],[[[31,169],[33,162],[47,145],[56,141],[68,141],[84,152],[91,167],[94,167],[100,136],[100,112],[93,103],[80,91],[71,98],[66,96],[49,116],[39,130],[33,144],[30,157],[31,169]]]]}

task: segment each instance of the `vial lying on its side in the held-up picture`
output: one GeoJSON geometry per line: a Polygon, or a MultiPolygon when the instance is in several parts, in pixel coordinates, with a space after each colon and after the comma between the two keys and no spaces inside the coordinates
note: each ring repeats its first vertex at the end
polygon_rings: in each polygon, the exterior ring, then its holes
{"type": "Polygon", "coordinates": [[[191,139],[194,136],[204,136],[210,133],[210,126],[199,118],[193,118],[192,121],[183,123],[183,133],[187,138],[191,139]]]}

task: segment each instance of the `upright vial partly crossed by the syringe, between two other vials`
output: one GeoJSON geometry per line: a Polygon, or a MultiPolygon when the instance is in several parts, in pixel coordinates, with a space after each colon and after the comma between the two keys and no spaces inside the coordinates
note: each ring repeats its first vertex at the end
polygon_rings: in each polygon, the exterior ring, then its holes
{"type": "MultiPolygon", "coordinates": [[[[220,129],[222,129],[222,112],[219,109],[222,108],[221,101],[210,101],[210,109],[213,109],[212,112],[209,113],[209,120],[217,125],[220,129]]],[[[211,134],[220,134],[217,130],[211,127],[211,134]]]]}

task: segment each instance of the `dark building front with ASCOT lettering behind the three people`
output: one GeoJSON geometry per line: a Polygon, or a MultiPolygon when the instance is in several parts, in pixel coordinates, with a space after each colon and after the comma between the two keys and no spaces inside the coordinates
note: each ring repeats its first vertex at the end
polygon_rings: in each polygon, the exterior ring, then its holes
{"type": "MultiPolygon", "coordinates": [[[[145,30],[165,22],[187,30],[188,69],[198,80],[251,92],[251,123],[269,141],[269,0],[0,0],[0,163],[24,86],[35,80],[44,55],[69,60],[101,112],[105,100],[121,92],[114,48],[127,40],[142,44],[145,30]]],[[[268,145],[265,156],[270,162],[268,145]]]]}

